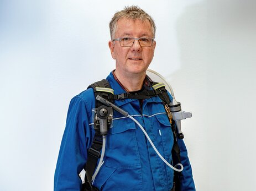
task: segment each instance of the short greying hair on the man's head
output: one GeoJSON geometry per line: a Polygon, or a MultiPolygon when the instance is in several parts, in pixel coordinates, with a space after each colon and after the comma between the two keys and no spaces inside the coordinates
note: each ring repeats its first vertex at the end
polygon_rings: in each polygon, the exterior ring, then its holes
{"type": "Polygon", "coordinates": [[[142,21],[148,20],[149,23],[151,24],[153,37],[155,37],[156,27],[155,27],[155,22],[153,18],[151,18],[148,13],[144,12],[144,10],[140,9],[138,6],[130,6],[130,7],[127,6],[127,7],[124,7],[123,10],[116,12],[114,14],[114,17],[111,19],[109,23],[111,40],[114,39],[114,34],[117,29],[117,21],[121,18],[132,19],[132,20],[140,19],[142,21]]]}

